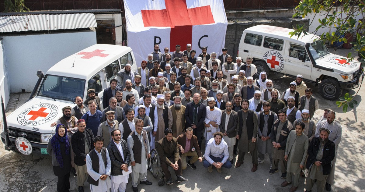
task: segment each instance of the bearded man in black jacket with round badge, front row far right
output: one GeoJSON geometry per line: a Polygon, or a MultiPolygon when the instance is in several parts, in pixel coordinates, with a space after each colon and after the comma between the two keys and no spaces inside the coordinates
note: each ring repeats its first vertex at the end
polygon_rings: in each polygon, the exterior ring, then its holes
{"type": "Polygon", "coordinates": [[[313,138],[308,147],[308,158],[306,168],[308,177],[306,191],[312,190],[315,180],[317,191],[324,191],[324,185],[328,174],[331,172],[331,162],[335,157],[335,143],[328,140],[330,130],[319,129],[319,137],[313,138]]]}

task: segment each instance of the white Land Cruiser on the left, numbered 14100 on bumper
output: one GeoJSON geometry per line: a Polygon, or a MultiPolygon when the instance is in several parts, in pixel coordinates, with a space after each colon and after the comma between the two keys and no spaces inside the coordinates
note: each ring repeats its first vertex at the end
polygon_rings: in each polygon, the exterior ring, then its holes
{"type": "Polygon", "coordinates": [[[6,117],[1,133],[5,149],[24,155],[47,154],[48,141],[55,134],[50,125],[63,115],[61,109],[76,106],[77,96],[85,101],[91,88],[102,100],[110,80],[120,82],[118,73],[127,63],[131,70],[137,69],[130,47],[96,44],[59,61],[45,75],[38,70],[29,100],[6,117]]]}

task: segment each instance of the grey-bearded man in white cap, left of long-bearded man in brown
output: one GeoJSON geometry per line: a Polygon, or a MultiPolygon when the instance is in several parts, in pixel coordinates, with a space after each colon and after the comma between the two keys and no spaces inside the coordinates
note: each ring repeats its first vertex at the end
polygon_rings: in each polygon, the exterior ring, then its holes
{"type": "Polygon", "coordinates": [[[172,127],[172,113],[170,108],[165,105],[165,95],[157,95],[157,135],[156,140],[160,140],[165,137],[165,129],[171,129],[172,127]]]}

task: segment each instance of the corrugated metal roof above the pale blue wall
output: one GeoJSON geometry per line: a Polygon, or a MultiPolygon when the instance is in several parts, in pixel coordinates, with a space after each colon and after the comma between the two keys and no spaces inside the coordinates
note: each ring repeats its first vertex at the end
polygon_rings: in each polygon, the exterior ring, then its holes
{"type": "Polygon", "coordinates": [[[97,27],[92,13],[0,16],[0,33],[97,27]]]}

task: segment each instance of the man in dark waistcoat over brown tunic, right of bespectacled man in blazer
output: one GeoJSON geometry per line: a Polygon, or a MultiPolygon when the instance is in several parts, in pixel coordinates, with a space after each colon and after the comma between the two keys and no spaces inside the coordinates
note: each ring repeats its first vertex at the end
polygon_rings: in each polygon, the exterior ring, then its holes
{"type": "Polygon", "coordinates": [[[257,170],[257,114],[249,110],[250,102],[247,99],[242,100],[242,109],[238,111],[238,128],[236,138],[238,141],[238,159],[235,167],[243,164],[245,154],[250,153],[252,156],[251,172],[257,170]]]}

